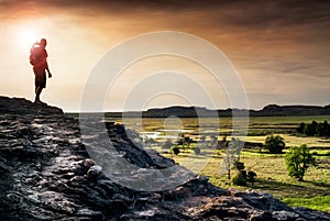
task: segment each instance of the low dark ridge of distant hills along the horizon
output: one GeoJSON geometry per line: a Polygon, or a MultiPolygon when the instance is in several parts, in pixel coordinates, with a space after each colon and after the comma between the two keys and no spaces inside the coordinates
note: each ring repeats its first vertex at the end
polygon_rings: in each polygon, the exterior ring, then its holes
{"type": "Polygon", "coordinates": [[[330,104],[320,106],[277,106],[270,104],[261,110],[244,109],[219,109],[210,110],[201,107],[180,107],[174,106],[168,108],[148,109],[146,111],[128,111],[128,112],[107,112],[110,118],[211,118],[211,117],[231,117],[246,115],[251,117],[282,117],[282,115],[330,115],[330,104]]]}

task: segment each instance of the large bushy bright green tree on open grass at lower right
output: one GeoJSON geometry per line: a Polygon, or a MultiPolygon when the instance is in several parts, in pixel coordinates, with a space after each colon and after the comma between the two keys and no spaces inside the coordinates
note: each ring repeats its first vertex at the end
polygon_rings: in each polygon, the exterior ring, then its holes
{"type": "Polygon", "coordinates": [[[304,175],[308,167],[315,166],[316,162],[312,155],[309,153],[309,148],[306,144],[297,147],[290,147],[285,154],[285,164],[290,177],[298,178],[302,181],[304,175]]]}

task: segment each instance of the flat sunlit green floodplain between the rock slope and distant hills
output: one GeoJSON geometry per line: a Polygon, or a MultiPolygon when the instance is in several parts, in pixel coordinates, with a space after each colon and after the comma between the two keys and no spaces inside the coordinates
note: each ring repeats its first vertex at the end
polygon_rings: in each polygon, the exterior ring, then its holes
{"type": "MultiPolygon", "coordinates": [[[[77,115],[76,115],[77,117],[77,115]]],[[[268,192],[293,207],[308,207],[330,212],[330,137],[306,136],[297,132],[301,122],[330,122],[330,115],[297,115],[297,117],[250,117],[250,118],[125,118],[110,119],[123,123],[127,130],[138,132],[144,148],[158,151],[163,156],[173,158],[186,168],[209,177],[209,180],[222,188],[255,190],[268,192]],[[164,142],[174,145],[179,134],[189,136],[189,147],[180,148],[175,155],[170,148],[164,148],[164,142]],[[280,135],[286,147],[283,154],[270,154],[262,145],[267,135],[280,135]],[[226,148],[210,147],[211,141],[230,141],[232,137],[245,142],[240,154],[240,162],[246,170],[256,173],[254,184],[235,186],[227,177],[223,169],[226,148]],[[200,141],[204,141],[199,143],[200,141]],[[208,143],[209,142],[209,143],[208,143]],[[307,144],[316,158],[317,165],[308,168],[304,181],[289,177],[284,154],[290,146],[307,144]],[[199,146],[200,154],[194,153],[199,146]],[[205,145],[205,146],[204,146],[205,145]]],[[[232,170],[234,174],[234,170],[232,170]]]]}

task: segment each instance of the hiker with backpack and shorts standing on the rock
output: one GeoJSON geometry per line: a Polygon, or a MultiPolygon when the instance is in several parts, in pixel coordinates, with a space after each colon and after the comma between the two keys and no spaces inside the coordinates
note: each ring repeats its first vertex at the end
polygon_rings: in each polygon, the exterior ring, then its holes
{"type": "Polygon", "coordinates": [[[30,51],[30,63],[33,65],[33,73],[35,76],[35,100],[34,103],[42,103],[40,100],[40,95],[46,87],[46,70],[48,73],[48,78],[52,74],[47,64],[47,51],[45,49],[47,41],[42,38],[40,43],[34,43],[30,51]]]}

